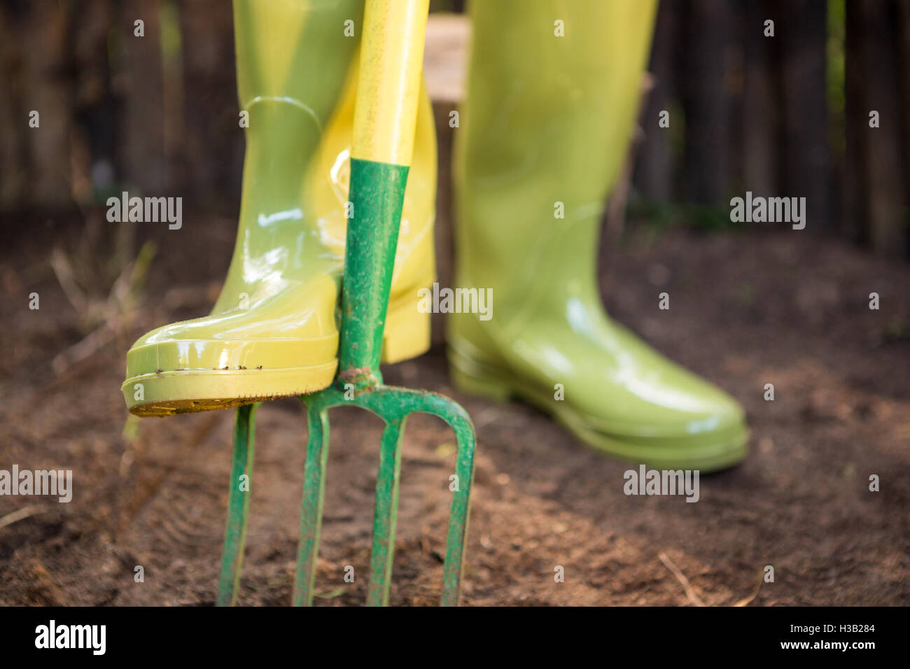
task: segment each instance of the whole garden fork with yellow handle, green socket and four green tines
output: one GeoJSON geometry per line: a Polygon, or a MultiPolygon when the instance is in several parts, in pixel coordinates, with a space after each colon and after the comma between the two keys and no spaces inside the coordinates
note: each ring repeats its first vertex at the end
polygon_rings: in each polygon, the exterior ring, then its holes
{"type": "MultiPolygon", "coordinates": [[[[468,530],[474,427],[467,412],[455,401],[423,390],[384,385],[379,372],[383,325],[413,149],[428,9],[429,0],[367,0],[366,4],[351,145],[351,215],[341,288],[339,373],[329,388],[301,398],[307,407],[309,436],[294,579],[295,605],[313,601],[325,492],[323,477],[329,457],[328,412],[332,407],[350,404],[372,411],[386,424],[379,448],[367,603],[389,603],[401,435],[411,413],[439,416],[455,431],[458,452],[455,478],[450,478],[453,492],[441,603],[458,603],[468,530]]],[[[238,481],[241,476],[252,474],[257,406],[247,405],[237,411],[218,605],[237,601],[249,511],[249,493],[241,489],[238,481]]]]}

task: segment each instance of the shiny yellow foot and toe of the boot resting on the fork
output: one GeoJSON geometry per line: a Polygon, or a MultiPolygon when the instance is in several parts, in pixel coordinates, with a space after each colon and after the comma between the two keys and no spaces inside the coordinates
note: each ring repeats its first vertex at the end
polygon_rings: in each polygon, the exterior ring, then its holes
{"type": "Polygon", "coordinates": [[[338,366],[339,333],[334,299],[317,292],[285,289],[248,309],[148,332],[126,353],[127,408],[164,416],[326,388],[338,366]],[[288,300],[300,308],[288,309],[288,300]]]}

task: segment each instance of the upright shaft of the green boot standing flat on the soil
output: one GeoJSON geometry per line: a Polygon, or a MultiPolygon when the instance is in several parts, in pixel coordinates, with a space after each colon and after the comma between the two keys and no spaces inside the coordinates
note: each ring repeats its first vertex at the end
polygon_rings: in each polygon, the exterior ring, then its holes
{"type": "Polygon", "coordinates": [[[458,285],[497,316],[597,299],[607,193],[638,108],[656,3],[471,4],[468,95],[456,133],[458,285]]]}

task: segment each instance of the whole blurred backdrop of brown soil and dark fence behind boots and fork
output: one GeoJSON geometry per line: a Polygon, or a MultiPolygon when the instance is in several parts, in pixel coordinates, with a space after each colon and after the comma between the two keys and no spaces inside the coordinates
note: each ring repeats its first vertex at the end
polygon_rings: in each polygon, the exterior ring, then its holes
{"type": "MultiPolygon", "coordinates": [[[[431,6],[451,286],[449,115],[470,25],[460,1],[431,6]]],[[[120,385],[132,342],[206,314],[226,275],[244,153],[233,53],[227,0],[0,2],[0,469],[74,471],[71,503],[0,497],[0,604],[214,603],[233,413],[139,421],[120,385]],[[107,222],[124,190],[182,197],[183,227],[107,222]]],[[[751,451],[704,476],[697,504],[625,496],[626,463],[521,403],[453,390],[434,315],[432,350],[383,374],[455,397],[477,428],[465,603],[910,604],[908,157],[910,0],[661,2],[600,288],[613,318],[743,403],[751,451]],[[806,198],[806,228],[731,223],[747,190],[806,198]]],[[[342,575],[369,568],[380,434],[338,411],[328,605],[363,601],[365,579],[342,575]]],[[[240,603],[287,604],[300,402],[267,402],[257,423],[240,603]]],[[[439,601],[453,459],[448,429],[409,419],[392,603],[439,601]]]]}

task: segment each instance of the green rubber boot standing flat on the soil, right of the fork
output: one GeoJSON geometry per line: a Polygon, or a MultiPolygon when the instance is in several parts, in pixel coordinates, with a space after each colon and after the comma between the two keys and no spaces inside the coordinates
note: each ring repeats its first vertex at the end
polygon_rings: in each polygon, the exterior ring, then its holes
{"type": "Polygon", "coordinates": [[[623,460],[711,471],[745,455],[742,408],[609,319],[596,285],[604,201],[632,134],[655,9],[471,4],[456,285],[492,289],[492,309],[486,320],[450,316],[450,366],[460,390],[529,400],[623,460]]]}

